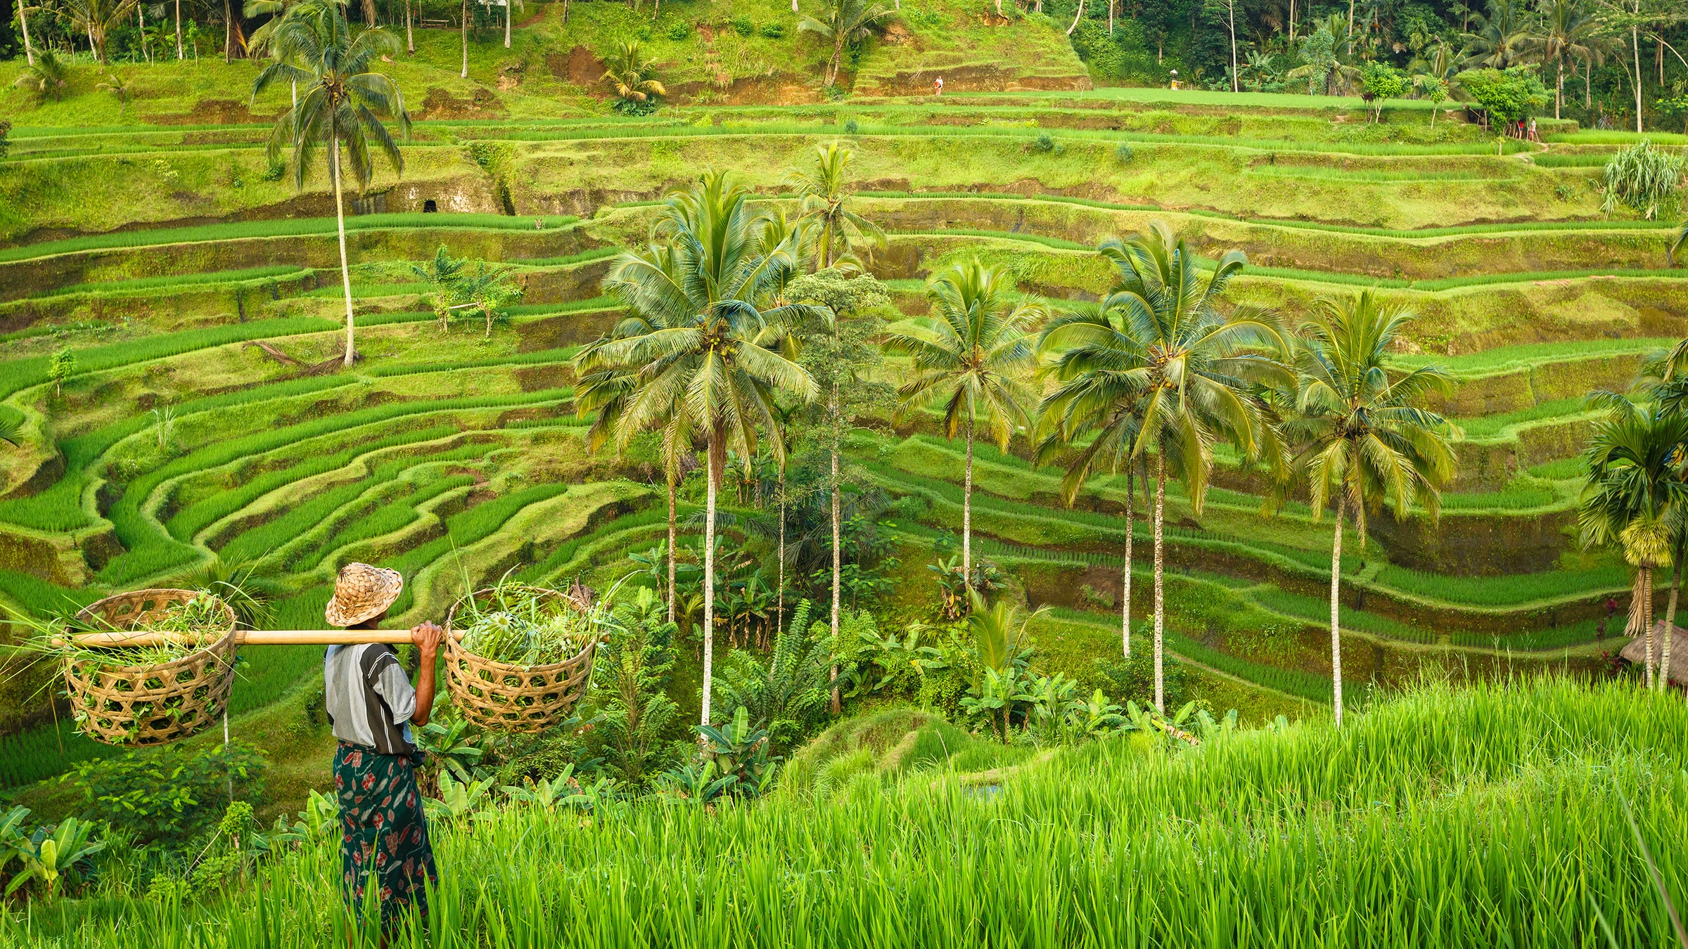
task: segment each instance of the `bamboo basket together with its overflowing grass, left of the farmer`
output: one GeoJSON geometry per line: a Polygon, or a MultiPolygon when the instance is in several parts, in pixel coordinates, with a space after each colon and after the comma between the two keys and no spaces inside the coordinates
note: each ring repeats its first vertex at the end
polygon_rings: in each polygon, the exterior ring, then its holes
{"type": "Polygon", "coordinates": [[[74,618],[25,620],[34,652],[64,665],[76,728],[106,745],[164,745],[221,714],[235,679],[235,611],[196,589],[137,589],[74,618]],[[145,645],[88,645],[84,633],[159,633],[145,645]]]}

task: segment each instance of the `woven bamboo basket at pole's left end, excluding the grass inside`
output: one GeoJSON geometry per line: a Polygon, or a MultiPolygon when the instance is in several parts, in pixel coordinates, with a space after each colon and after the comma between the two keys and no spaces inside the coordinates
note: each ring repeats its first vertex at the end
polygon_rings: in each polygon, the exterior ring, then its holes
{"type": "MultiPolygon", "coordinates": [[[[113,630],[133,630],[186,603],[192,589],[137,589],[83,608],[76,620],[113,630]]],[[[165,745],[189,738],[228,706],[235,682],[235,611],[218,603],[228,620],[216,642],[157,665],[106,665],[91,659],[64,664],[64,684],[78,728],[106,745],[165,745]]]]}

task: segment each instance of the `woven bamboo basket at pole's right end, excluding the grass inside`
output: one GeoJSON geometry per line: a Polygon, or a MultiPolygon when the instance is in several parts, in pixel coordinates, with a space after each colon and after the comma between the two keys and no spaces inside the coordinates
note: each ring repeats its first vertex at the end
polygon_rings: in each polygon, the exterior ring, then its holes
{"type": "MultiPolygon", "coordinates": [[[[571,594],[544,588],[527,589],[547,601],[571,603],[576,610],[589,606],[589,594],[579,588],[571,594]]],[[[481,599],[491,593],[478,589],[471,598],[481,599]]],[[[446,687],[457,711],[491,731],[544,731],[565,719],[586,694],[586,684],[592,677],[598,637],[589,638],[581,652],[562,662],[547,665],[496,662],[474,655],[457,642],[452,623],[463,605],[464,599],[459,599],[446,615],[446,687]]]]}

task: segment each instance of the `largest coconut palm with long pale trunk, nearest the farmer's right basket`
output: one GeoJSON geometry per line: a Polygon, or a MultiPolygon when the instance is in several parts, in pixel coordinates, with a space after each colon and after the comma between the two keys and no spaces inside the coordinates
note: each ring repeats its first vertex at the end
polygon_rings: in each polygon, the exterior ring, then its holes
{"type": "MultiPolygon", "coordinates": [[[[621,444],[657,426],[677,437],[697,432],[707,444],[704,724],[714,660],[716,495],[728,451],[746,463],[756,458],[758,427],[770,436],[778,431],[776,392],[815,395],[809,373],[778,351],[783,324],[810,307],[766,306],[773,274],[788,263],[783,252],[760,253],[758,225],[749,193],[724,174],[707,174],[670,196],[653,228],[663,247],[623,253],[604,277],[604,289],[631,316],[577,361],[582,375],[628,377],[616,409],[621,444]]],[[[776,458],[783,444],[771,437],[776,458]]]]}

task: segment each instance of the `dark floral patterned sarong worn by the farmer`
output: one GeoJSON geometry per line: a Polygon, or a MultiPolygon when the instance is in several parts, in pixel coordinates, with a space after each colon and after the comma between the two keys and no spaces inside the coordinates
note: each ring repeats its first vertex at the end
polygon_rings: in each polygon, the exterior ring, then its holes
{"type": "Polygon", "coordinates": [[[356,910],[373,873],[380,885],[381,929],[392,929],[412,908],[427,919],[427,885],[439,880],[429,844],[415,763],[407,755],[381,755],[339,743],[334,753],[339,792],[339,888],[356,910]]]}

